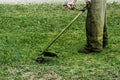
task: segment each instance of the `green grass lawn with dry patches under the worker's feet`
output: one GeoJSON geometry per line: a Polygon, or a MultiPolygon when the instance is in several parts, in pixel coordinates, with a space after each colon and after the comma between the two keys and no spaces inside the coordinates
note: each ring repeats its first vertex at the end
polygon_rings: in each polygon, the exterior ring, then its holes
{"type": "Polygon", "coordinates": [[[50,47],[58,58],[44,64],[33,60],[77,13],[61,4],[0,4],[0,80],[119,80],[120,5],[115,2],[108,4],[109,45],[101,53],[77,52],[86,44],[85,13],[50,47]]]}

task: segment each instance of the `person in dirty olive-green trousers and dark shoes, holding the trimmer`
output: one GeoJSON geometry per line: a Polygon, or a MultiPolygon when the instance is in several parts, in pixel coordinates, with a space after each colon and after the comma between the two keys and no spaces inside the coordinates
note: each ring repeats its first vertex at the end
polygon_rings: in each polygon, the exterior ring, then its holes
{"type": "MultiPolygon", "coordinates": [[[[101,52],[108,44],[106,27],[106,0],[85,0],[89,5],[86,18],[86,46],[78,52],[101,52]]],[[[72,8],[77,0],[67,3],[72,8]]]]}

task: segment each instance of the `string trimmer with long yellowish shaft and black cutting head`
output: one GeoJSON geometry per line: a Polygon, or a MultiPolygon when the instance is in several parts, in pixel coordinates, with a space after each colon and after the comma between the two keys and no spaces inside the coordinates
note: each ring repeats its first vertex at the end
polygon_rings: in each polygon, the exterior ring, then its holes
{"type": "MultiPolygon", "coordinates": [[[[66,4],[65,4],[64,6],[66,6],[66,4]]],[[[39,63],[45,62],[44,56],[46,56],[46,57],[57,57],[57,54],[48,51],[49,47],[72,25],[72,23],[73,23],[76,19],[78,19],[78,17],[79,17],[82,13],[84,13],[84,12],[86,11],[87,7],[88,7],[88,6],[86,5],[83,9],[79,10],[79,13],[76,15],[76,17],[75,17],[75,18],[53,39],[53,41],[51,41],[51,43],[41,52],[40,57],[38,57],[38,58],[36,59],[37,62],[39,62],[39,63]]],[[[75,9],[75,8],[74,8],[74,9],[75,9]]],[[[77,10],[78,10],[78,9],[77,9],[77,10]]]]}

